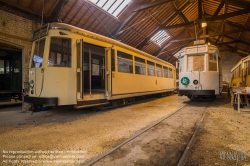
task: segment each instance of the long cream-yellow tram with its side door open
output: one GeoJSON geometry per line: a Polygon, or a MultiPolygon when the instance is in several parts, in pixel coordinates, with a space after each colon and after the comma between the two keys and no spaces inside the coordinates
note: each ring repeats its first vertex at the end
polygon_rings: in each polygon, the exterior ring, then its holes
{"type": "Polygon", "coordinates": [[[33,40],[25,102],[115,106],[176,88],[173,65],[116,40],[63,23],[43,26],[33,40]]]}

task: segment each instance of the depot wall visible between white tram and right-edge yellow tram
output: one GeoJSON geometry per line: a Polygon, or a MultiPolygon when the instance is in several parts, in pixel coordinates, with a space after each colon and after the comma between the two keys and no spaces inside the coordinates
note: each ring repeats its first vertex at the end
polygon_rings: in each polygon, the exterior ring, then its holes
{"type": "Polygon", "coordinates": [[[233,52],[220,52],[222,56],[222,80],[231,81],[231,69],[242,59],[242,57],[233,52]]]}

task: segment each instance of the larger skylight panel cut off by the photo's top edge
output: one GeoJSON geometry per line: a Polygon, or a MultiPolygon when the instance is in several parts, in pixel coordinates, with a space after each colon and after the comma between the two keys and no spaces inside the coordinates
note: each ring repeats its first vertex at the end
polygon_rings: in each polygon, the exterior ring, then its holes
{"type": "Polygon", "coordinates": [[[103,8],[113,16],[117,17],[120,12],[127,7],[131,0],[90,0],[103,8]]]}

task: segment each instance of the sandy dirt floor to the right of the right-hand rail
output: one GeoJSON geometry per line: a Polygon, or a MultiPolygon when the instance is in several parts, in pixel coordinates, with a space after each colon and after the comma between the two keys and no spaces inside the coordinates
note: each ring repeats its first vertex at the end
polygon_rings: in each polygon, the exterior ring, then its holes
{"type": "Polygon", "coordinates": [[[229,103],[213,102],[186,165],[250,166],[250,112],[238,114],[229,103]]]}

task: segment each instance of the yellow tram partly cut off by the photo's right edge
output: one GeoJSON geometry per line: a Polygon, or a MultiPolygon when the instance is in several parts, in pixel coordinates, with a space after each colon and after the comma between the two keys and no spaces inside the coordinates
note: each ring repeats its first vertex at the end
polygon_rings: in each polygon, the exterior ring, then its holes
{"type": "Polygon", "coordinates": [[[231,69],[231,86],[250,86],[250,55],[231,69]]]}

